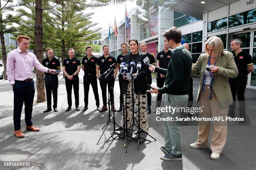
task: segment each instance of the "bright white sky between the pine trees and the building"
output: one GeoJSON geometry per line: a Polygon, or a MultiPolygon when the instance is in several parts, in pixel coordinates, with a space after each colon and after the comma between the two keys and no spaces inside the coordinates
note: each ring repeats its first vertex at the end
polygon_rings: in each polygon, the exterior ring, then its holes
{"type": "Polygon", "coordinates": [[[98,25],[95,26],[97,27],[102,27],[102,29],[108,29],[108,24],[113,23],[116,20],[116,23],[120,23],[125,16],[125,5],[127,8],[127,12],[131,11],[134,7],[136,7],[136,1],[133,2],[125,2],[120,5],[107,5],[105,7],[98,7],[95,10],[92,10],[90,12],[94,12],[95,14],[92,15],[91,21],[94,21],[96,23],[99,23],[98,25]]]}

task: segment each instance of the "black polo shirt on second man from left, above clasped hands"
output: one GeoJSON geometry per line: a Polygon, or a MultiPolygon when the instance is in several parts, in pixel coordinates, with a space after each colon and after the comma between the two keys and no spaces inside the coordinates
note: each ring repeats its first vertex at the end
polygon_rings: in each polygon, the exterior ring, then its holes
{"type": "Polygon", "coordinates": [[[70,60],[69,58],[66,58],[63,61],[62,66],[65,67],[65,70],[68,73],[68,75],[72,75],[74,74],[74,72],[77,71],[77,66],[81,67],[81,62],[75,57],[72,60],[70,60]]]}

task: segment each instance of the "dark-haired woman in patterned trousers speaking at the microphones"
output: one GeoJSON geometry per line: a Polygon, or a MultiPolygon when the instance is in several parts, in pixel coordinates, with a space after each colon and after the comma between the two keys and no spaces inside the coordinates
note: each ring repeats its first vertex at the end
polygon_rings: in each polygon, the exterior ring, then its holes
{"type": "MultiPolygon", "coordinates": [[[[147,104],[147,95],[146,95],[146,89],[147,89],[147,83],[146,83],[146,74],[149,72],[148,66],[143,62],[143,59],[146,57],[145,54],[138,51],[138,40],[131,39],[129,40],[130,50],[131,52],[126,54],[124,57],[124,62],[126,64],[129,64],[131,62],[135,63],[135,67],[132,71],[132,76],[134,77],[134,102],[137,106],[137,109],[140,109],[140,127],[141,130],[148,131],[148,114],[146,111],[146,104],[147,104]],[[137,64],[138,62],[141,62],[141,70],[138,71],[137,74],[137,64]],[[136,77],[136,78],[135,78],[136,77]],[[140,93],[140,108],[138,108],[138,94],[140,93]]],[[[130,67],[131,70],[131,67],[130,67]]],[[[127,80],[127,77],[123,76],[123,79],[125,80],[124,85],[127,87],[126,89],[126,101],[127,101],[127,127],[130,128],[133,124],[132,117],[133,117],[133,107],[132,107],[132,82],[131,80],[127,80]]],[[[125,96],[124,96],[125,97],[125,96]]],[[[125,98],[124,98],[125,101],[125,98]]],[[[123,128],[123,117],[120,123],[120,127],[118,127],[116,130],[122,130],[123,128]]],[[[137,134],[138,130],[134,132],[134,134],[137,134]]]]}

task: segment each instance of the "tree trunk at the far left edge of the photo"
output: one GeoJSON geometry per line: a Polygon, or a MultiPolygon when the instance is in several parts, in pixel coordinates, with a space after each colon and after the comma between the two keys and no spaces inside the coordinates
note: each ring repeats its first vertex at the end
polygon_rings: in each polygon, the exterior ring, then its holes
{"type": "MultiPolygon", "coordinates": [[[[1,1],[0,1],[0,8],[2,8],[1,1]]],[[[2,45],[2,56],[3,56],[3,65],[4,65],[4,72],[5,77],[3,77],[5,80],[7,80],[6,75],[6,49],[5,49],[5,37],[3,32],[3,15],[2,10],[0,10],[0,38],[1,38],[1,45],[2,45]]],[[[2,72],[0,72],[0,75],[2,75],[2,72]]]]}

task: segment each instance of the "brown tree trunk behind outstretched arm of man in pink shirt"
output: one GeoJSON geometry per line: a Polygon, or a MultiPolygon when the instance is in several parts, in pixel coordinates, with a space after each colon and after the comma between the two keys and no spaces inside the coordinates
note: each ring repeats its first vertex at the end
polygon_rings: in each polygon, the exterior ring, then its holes
{"type": "MultiPolygon", "coordinates": [[[[35,55],[39,62],[43,60],[43,7],[42,0],[36,0],[35,6],[36,23],[35,23],[35,55]]],[[[44,73],[36,70],[36,89],[37,100],[36,102],[45,101],[44,91],[44,73]]]]}

